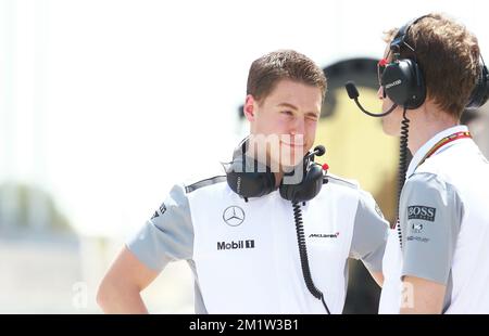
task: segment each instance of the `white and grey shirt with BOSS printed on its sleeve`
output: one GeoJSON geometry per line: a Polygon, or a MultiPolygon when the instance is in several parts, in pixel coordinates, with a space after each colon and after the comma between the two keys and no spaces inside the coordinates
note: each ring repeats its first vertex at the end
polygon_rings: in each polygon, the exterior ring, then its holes
{"type": "Polygon", "coordinates": [[[412,288],[401,288],[404,275],[447,285],[444,313],[489,313],[489,163],[465,138],[418,166],[440,140],[465,131],[456,126],[436,134],[410,164],[400,201],[402,247],[390,230],[379,313],[412,303],[412,288]]]}

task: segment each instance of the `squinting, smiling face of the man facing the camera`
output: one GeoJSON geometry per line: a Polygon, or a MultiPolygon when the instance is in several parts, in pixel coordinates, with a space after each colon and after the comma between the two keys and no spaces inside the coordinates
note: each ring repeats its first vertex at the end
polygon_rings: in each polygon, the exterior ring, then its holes
{"type": "Polygon", "coordinates": [[[319,88],[289,79],[278,81],[260,102],[247,96],[244,115],[251,124],[251,138],[262,146],[266,142],[272,169],[301,161],[314,143],[321,105],[319,88]]]}

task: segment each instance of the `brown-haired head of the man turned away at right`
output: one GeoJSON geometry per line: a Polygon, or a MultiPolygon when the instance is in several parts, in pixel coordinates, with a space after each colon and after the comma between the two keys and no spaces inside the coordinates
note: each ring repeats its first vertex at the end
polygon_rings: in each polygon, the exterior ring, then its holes
{"type": "MultiPolygon", "coordinates": [[[[398,33],[398,28],[386,33],[384,56],[388,62],[392,61],[390,44],[398,33]]],[[[404,41],[409,46],[400,46],[399,59],[417,63],[426,87],[425,102],[408,117],[457,124],[480,75],[477,38],[450,17],[431,13],[410,26],[404,41]]],[[[378,98],[383,100],[384,111],[392,106],[383,87],[378,98]]],[[[402,109],[399,106],[383,118],[386,133],[399,135],[402,109]]]]}

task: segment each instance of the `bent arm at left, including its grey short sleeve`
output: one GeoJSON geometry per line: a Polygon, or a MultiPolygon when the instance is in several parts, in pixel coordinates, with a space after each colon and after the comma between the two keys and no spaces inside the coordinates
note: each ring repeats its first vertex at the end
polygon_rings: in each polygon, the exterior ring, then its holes
{"type": "Polygon", "coordinates": [[[140,292],[171,261],[193,255],[193,225],[183,185],[175,185],[164,203],[114,261],[97,295],[108,313],[147,313],[140,292]]]}

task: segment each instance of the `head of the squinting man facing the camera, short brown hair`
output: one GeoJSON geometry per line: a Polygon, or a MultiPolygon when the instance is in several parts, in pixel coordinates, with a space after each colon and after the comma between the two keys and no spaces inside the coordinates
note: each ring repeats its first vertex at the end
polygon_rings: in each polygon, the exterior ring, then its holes
{"type": "Polygon", "coordinates": [[[243,113],[250,139],[259,153],[266,148],[268,165],[296,166],[311,148],[325,92],[323,70],[293,50],[271,52],[252,63],[243,113]]]}

